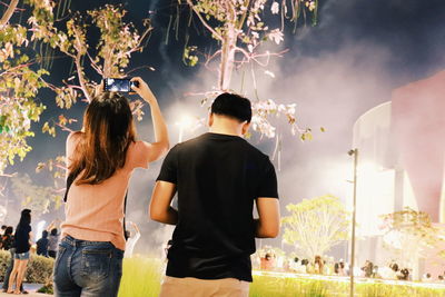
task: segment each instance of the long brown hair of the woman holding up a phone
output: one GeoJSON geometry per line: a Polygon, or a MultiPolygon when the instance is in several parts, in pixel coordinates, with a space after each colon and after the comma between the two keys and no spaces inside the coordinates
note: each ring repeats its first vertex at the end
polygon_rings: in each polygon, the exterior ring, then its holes
{"type": "Polygon", "coordinates": [[[80,175],[76,185],[97,185],[122,168],[136,129],[128,100],[116,92],[102,92],[83,115],[85,132],[76,147],[69,170],[80,175]]]}

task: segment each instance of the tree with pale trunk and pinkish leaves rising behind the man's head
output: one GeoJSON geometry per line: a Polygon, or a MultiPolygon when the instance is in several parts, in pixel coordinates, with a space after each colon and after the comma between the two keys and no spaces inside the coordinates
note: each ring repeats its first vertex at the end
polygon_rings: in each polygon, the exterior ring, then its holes
{"type": "MultiPolygon", "coordinates": [[[[285,20],[289,19],[297,23],[300,17],[306,16],[316,23],[317,7],[316,0],[181,0],[186,2],[197,16],[201,24],[211,33],[217,41],[218,50],[206,56],[206,67],[210,61],[219,58],[218,81],[214,91],[205,92],[206,97],[230,90],[230,81],[234,69],[240,69],[250,65],[251,76],[257,100],[253,102],[253,128],[266,137],[275,137],[275,127],[268,120],[271,115],[284,115],[291,126],[291,132],[298,133],[303,140],[310,138],[310,129],[300,129],[295,118],[296,105],[276,103],[274,100],[259,100],[255,78],[254,66],[257,65],[265,70],[266,75],[275,77],[267,70],[273,57],[281,57],[287,50],[270,52],[263,50],[261,44],[266,41],[274,41],[279,44],[284,40],[285,20]],[[270,4],[270,6],[269,6],[270,4]],[[266,8],[269,8],[269,13],[266,8]],[[266,23],[266,14],[280,17],[280,28],[269,28],[266,23]]],[[[198,61],[197,48],[186,47],[185,60],[194,66],[198,61]]],[[[243,90],[241,90],[243,92],[243,90]]],[[[204,100],[206,101],[206,100],[204,100]]]]}

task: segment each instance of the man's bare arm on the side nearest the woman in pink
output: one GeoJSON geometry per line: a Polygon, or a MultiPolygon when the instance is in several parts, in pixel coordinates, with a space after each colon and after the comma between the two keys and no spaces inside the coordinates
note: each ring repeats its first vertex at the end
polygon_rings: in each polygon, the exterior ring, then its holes
{"type": "Polygon", "coordinates": [[[175,194],[175,184],[162,180],[156,182],[148,210],[152,220],[169,225],[178,222],[178,210],[170,206],[175,194]]]}

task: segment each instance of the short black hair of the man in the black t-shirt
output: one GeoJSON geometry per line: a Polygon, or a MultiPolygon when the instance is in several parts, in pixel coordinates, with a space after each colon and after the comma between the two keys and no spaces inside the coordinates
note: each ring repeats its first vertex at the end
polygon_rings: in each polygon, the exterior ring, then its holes
{"type": "Polygon", "coordinates": [[[230,117],[240,122],[250,122],[251,105],[249,99],[243,96],[224,92],[211,103],[211,113],[230,117]]]}

